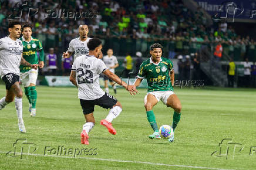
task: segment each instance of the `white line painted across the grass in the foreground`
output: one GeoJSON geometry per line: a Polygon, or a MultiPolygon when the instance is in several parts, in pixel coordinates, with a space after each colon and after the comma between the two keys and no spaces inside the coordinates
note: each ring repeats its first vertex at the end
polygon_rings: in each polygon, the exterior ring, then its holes
{"type": "MultiPolygon", "coordinates": [[[[2,154],[6,154],[7,152],[0,151],[2,154]]],[[[16,152],[16,154],[21,154],[16,152]]],[[[223,169],[223,168],[211,168],[211,167],[203,167],[203,166],[190,166],[190,165],[171,165],[171,164],[160,164],[160,163],[153,163],[153,162],[142,162],[142,161],[127,161],[127,160],[118,160],[118,159],[104,159],[104,158],[87,158],[87,157],[68,157],[68,156],[57,156],[57,155],[42,155],[42,154],[27,154],[23,153],[24,155],[33,155],[38,157],[55,157],[55,158],[73,158],[73,159],[90,159],[90,160],[97,160],[97,161],[109,161],[109,162],[127,162],[133,164],[147,164],[147,165],[159,165],[159,166],[176,166],[181,168],[196,168],[196,169],[221,169],[221,170],[231,170],[231,169],[223,169]]]]}

